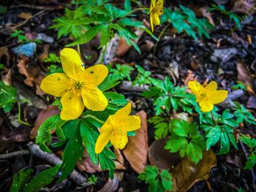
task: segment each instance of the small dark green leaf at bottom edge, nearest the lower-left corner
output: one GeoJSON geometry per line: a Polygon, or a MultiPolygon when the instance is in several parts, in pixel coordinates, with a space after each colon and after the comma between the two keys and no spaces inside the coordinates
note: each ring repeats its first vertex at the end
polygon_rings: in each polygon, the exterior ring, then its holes
{"type": "Polygon", "coordinates": [[[14,174],[10,192],[23,191],[25,184],[29,181],[31,177],[31,172],[33,172],[32,169],[26,169],[26,171],[24,171],[24,169],[20,169],[18,174],[14,174]]]}

